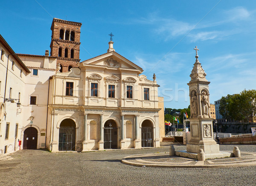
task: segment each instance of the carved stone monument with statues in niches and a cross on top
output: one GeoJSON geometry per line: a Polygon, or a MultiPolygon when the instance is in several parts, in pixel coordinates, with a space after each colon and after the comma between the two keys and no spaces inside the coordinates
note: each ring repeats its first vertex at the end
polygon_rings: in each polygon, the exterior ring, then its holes
{"type": "Polygon", "coordinates": [[[191,115],[191,139],[186,144],[186,151],[176,151],[176,155],[198,158],[199,149],[203,149],[205,158],[222,158],[230,153],[219,151],[219,145],[214,140],[212,120],[209,108],[209,83],[205,78],[206,73],[198,60],[197,47],[194,68],[190,74],[189,85],[191,115]]]}

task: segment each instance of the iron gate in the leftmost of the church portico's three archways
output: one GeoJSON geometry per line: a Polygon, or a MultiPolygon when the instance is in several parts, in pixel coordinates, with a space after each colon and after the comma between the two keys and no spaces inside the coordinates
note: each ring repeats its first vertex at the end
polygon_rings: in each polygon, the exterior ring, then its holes
{"type": "Polygon", "coordinates": [[[59,133],[59,151],[75,150],[75,127],[60,127],[59,133]]]}

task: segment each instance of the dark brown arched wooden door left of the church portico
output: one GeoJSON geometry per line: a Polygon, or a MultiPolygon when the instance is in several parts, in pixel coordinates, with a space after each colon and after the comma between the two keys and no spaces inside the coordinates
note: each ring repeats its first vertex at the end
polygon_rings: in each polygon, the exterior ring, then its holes
{"type": "Polygon", "coordinates": [[[23,149],[37,148],[38,131],[34,127],[29,127],[24,131],[23,149]]]}

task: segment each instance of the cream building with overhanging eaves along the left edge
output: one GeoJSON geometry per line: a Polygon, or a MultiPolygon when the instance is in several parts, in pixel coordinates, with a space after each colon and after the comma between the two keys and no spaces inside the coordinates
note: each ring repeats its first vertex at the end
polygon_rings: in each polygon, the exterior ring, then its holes
{"type": "Polygon", "coordinates": [[[0,155],[19,149],[24,87],[29,73],[29,69],[0,35],[0,155]]]}

